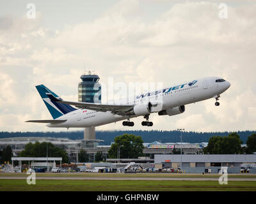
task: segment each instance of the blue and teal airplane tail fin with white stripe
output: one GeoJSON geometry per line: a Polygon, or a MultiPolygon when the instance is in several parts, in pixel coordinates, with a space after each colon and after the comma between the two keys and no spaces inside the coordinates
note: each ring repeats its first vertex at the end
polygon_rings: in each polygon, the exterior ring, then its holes
{"type": "Polygon", "coordinates": [[[47,93],[52,94],[54,97],[58,99],[60,99],[60,97],[57,96],[54,92],[52,92],[50,89],[48,89],[44,85],[36,85],[36,89],[39,92],[40,96],[42,97],[53,119],[56,119],[61,115],[64,115],[66,113],[76,110],[76,108],[73,108],[70,105],[57,103],[56,101],[51,100],[49,96],[47,96],[47,93]]]}

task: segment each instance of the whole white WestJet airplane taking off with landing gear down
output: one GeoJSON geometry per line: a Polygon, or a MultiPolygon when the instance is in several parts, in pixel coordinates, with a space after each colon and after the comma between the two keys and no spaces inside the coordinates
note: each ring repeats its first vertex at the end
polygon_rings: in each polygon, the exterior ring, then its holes
{"type": "Polygon", "coordinates": [[[47,123],[49,128],[90,128],[123,121],[123,126],[134,126],[130,119],[143,116],[142,126],[153,126],[149,121],[151,113],[177,115],[185,112],[185,105],[216,99],[219,106],[220,94],[227,91],[230,82],[220,77],[205,77],[190,82],[166,87],[154,92],[135,96],[132,101],[120,103],[84,103],[65,101],[44,85],[36,85],[53,120],[28,120],[26,122],[47,123]],[[73,106],[76,106],[74,108],[73,106]]]}

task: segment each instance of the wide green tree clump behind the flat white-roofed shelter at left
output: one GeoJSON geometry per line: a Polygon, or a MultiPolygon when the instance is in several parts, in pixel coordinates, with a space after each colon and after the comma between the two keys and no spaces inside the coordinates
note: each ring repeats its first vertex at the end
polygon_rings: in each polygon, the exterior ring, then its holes
{"type": "Polygon", "coordinates": [[[29,142],[25,149],[20,152],[21,157],[62,157],[62,163],[68,163],[68,156],[65,150],[56,147],[51,142],[29,142]],[[48,152],[48,154],[47,154],[48,152]]]}

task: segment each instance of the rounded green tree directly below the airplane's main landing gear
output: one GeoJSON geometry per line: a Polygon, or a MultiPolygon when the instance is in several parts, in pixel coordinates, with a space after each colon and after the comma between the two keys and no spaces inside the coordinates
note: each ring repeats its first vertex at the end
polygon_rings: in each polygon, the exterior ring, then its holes
{"type": "Polygon", "coordinates": [[[117,158],[118,148],[120,148],[120,158],[138,158],[143,156],[143,140],[141,136],[135,135],[120,135],[116,136],[114,143],[111,145],[111,149],[108,150],[109,158],[117,158]]]}

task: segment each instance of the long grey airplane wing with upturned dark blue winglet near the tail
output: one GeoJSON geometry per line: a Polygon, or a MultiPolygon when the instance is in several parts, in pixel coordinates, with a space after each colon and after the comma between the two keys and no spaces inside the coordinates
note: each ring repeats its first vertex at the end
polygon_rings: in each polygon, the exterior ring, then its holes
{"type": "Polygon", "coordinates": [[[129,115],[129,112],[134,108],[133,105],[108,105],[102,103],[85,103],[85,102],[73,102],[73,101],[63,101],[63,99],[58,99],[54,97],[52,94],[48,94],[47,96],[57,103],[64,103],[68,105],[74,105],[77,108],[86,108],[89,110],[96,110],[99,112],[111,112],[117,115],[129,115]]]}

